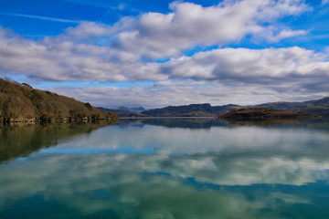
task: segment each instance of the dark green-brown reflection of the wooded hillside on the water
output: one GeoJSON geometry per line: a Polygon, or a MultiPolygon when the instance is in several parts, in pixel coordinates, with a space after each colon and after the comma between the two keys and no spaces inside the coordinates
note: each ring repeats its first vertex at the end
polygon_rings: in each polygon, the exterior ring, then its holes
{"type": "Polygon", "coordinates": [[[0,163],[17,157],[26,157],[31,152],[69,140],[80,134],[112,125],[99,121],[96,123],[27,124],[0,126],[0,163]]]}

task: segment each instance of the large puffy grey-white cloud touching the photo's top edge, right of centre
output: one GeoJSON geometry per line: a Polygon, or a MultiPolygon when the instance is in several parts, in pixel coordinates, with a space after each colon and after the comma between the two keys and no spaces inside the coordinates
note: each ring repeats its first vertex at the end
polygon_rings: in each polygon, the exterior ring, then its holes
{"type": "MultiPolygon", "coordinates": [[[[133,30],[119,34],[117,47],[154,59],[175,56],[196,45],[222,45],[247,35],[263,35],[272,28],[263,23],[309,10],[302,1],[271,0],[224,1],[209,7],[174,2],[170,8],[173,13],[141,16],[133,30]]],[[[275,40],[301,34],[304,31],[285,31],[275,40]]]]}

